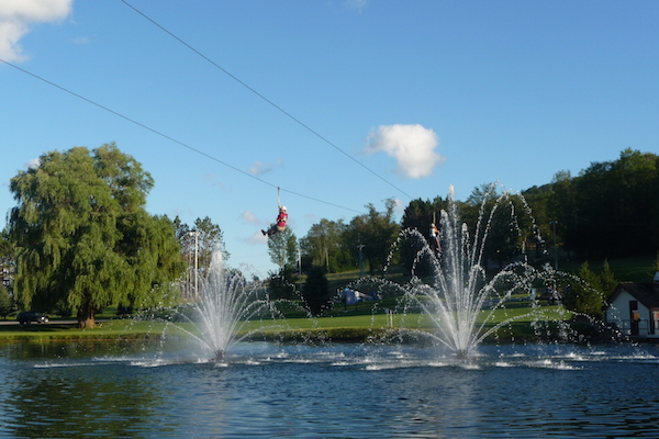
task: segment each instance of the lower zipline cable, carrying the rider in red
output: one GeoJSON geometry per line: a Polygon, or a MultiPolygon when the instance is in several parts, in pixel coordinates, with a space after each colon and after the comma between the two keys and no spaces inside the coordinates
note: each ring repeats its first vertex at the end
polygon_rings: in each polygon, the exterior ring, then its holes
{"type": "Polygon", "coordinates": [[[174,138],[174,137],[171,137],[171,136],[168,136],[167,134],[164,134],[164,133],[161,133],[161,132],[159,132],[159,131],[157,131],[157,130],[155,130],[155,128],[152,128],[150,126],[147,126],[147,125],[145,125],[145,124],[143,124],[143,123],[141,123],[141,122],[137,122],[137,121],[135,121],[134,119],[131,119],[131,117],[129,117],[129,116],[125,116],[125,115],[123,115],[123,114],[121,114],[121,113],[119,113],[119,112],[116,112],[116,111],[114,111],[114,110],[112,110],[112,109],[109,109],[109,108],[107,108],[107,106],[104,106],[104,105],[101,105],[100,103],[98,103],[98,102],[94,102],[94,101],[92,101],[91,99],[85,98],[83,95],[81,95],[81,94],[78,94],[78,93],[76,93],[76,92],[74,92],[74,91],[71,91],[71,90],[69,90],[69,89],[67,89],[67,88],[64,88],[64,87],[62,87],[62,86],[58,86],[58,85],[56,85],[55,82],[52,82],[52,81],[49,81],[49,80],[47,80],[47,79],[45,79],[45,78],[43,78],[43,77],[41,77],[41,76],[38,76],[38,75],[35,75],[35,74],[33,74],[33,72],[31,72],[31,71],[27,71],[27,70],[25,70],[25,69],[23,69],[23,68],[21,68],[21,67],[16,66],[16,65],[12,64],[12,63],[9,63],[9,61],[7,61],[7,60],[4,60],[4,59],[2,59],[2,58],[0,58],[0,61],[1,61],[1,63],[4,63],[5,65],[8,65],[8,66],[10,66],[10,67],[13,67],[14,69],[16,69],[16,70],[19,70],[19,71],[22,71],[22,72],[23,72],[23,74],[25,74],[25,75],[29,75],[29,76],[31,76],[31,77],[33,77],[33,78],[35,78],[35,79],[38,79],[40,81],[43,81],[43,82],[47,83],[48,86],[53,86],[53,87],[55,87],[55,88],[57,88],[57,89],[59,89],[59,90],[62,90],[62,91],[65,91],[65,92],[67,92],[67,93],[71,94],[71,95],[74,95],[74,97],[76,97],[76,98],[78,98],[78,99],[81,99],[82,101],[85,101],[85,102],[87,102],[87,103],[90,103],[90,104],[92,104],[92,105],[94,105],[94,106],[98,106],[98,108],[99,108],[99,109],[101,109],[101,110],[104,110],[104,111],[107,111],[107,112],[109,112],[109,113],[112,113],[112,114],[114,114],[115,116],[123,119],[124,121],[131,122],[132,124],[135,124],[135,125],[137,125],[137,126],[139,126],[139,127],[142,127],[142,128],[144,128],[144,130],[150,131],[152,133],[154,133],[154,134],[157,134],[158,136],[160,136],[160,137],[164,137],[164,138],[166,138],[166,139],[170,140],[170,142],[174,142],[175,144],[177,144],[177,145],[180,145],[180,146],[182,146],[183,148],[187,148],[187,149],[189,149],[189,150],[191,150],[191,151],[193,151],[193,153],[197,153],[197,154],[199,154],[199,155],[201,155],[201,156],[203,156],[203,157],[205,157],[205,158],[208,158],[208,159],[210,159],[210,160],[216,161],[216,162],[219,162],[220,165],[224,165],[225,167],[227,167],[227,168],[231,168],[231,169],[233,169],[234,171],[241,172],[241,173],[242,173],[242,175],[244,175],[244,176],[250,177],[250,178],[253,178],[253,179],[255,179],[255,180],[259,181],[260,183],[267,184],[267,185],[269,185],[269,187],[271,187],[271,188],[277,188],[277,191],[278,191],[278,192],[281,190],[281,191],[283,191],[283,192],[290,193],[290,194],[292,194],[292,195],[301,196],[301,198],[303,198],[303,199],[306,199],[306,200],[312,200],[312,201],[315,201],[315,202],[319,202],[319,203],[323,203],[323,204],[327,204],[327,205],[331,205],[331,206],[334,206],[334,207],[343,209],[343,210],[350,211],[350,212],[355,212],[355,213],[358,213],[358,214],[364,214],[364,212],[359,212],[359,211],[356,211],[356,210],[354,210],[354,209],[350,209],[350,207],[340,206],[340,205],[338,205],[338,204],[330,203],[330,202],[327,202],[327,201],[323,201],[323,200],[320,200],[320,199],[316,199],[316,198],[313,198],[313,196],[304,195],[304,194],[302,194],[302,193],[299,193],[299,192],[289,191],[289,190],[287,190],[287,189],[280,189],[279,187],[277,187],[277,185],[275,185],[275,184],[272,184],[272,183],[270,183],[270,182],[268,182],[268,181],[266,181],[266,180],[263,180],[263,179],[260,179],[260,178],[258,178],[258,177],[256,177],[256,176],[254,176],[254,175],[252,175],[252,173],[249,173],[249,172],[246,172],[246,171],[244,171],[244,170],[242,170],[242,169],[239,169],[239,168],[236,168],[235,166],[232,166],[232,165],[227,164],[226,161],[222,161],[222,160],[220,160],[219,158],[216,158],[216,157],[213,157],[213,156],[211,156],[211,155],[210,155],[210,154],[208,154],[208,153],[204,153],[204,151],[202,151],[202,150],[200,150],[200,149],[197,149],[197,148],[194,148],[194,147],[192,147],[192,146],[190,146],[190,145],[188,145],[188,144],[185,144],[183,142],[177,140],[176,138],[174,138]]]}

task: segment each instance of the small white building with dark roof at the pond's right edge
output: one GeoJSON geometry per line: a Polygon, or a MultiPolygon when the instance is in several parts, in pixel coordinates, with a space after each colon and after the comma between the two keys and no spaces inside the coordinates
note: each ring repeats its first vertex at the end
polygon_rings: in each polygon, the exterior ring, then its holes
{"type": "Polygon", "coordinates": [[[619,283],[604,318],[624,335],[659,341],[659,272],[651,283],[619,283]]]}

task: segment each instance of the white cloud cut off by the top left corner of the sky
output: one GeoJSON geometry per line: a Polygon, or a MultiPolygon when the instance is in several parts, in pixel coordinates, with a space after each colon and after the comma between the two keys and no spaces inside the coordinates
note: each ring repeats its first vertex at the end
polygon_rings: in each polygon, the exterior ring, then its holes
{"type": "Polygon", "coordinates": [[[24,60],[19,42],[30,32],[30,24],[64,20],[72,5],[74,0],[1,0],[0,57],[5,61],[24,60]]]}

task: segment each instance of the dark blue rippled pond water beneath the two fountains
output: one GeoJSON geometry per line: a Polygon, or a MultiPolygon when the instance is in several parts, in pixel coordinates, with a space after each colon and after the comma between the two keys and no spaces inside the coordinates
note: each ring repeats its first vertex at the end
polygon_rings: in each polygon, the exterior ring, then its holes
{"type": "Polygon", "coordinates": [[[0,437],[659,437],[659,349],[0,345],[0,437]]]}

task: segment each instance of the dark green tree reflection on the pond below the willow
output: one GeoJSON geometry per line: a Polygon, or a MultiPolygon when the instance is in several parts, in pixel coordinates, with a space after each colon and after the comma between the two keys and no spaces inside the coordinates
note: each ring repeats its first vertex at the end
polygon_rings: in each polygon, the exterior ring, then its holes
{"type": "Polygon", "coordinates": [[[19,437],[138,437],[163,402],[155,378],[135,368],[12,372],[2,418],[19,437]]]}

